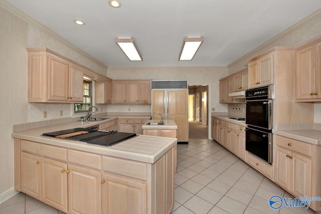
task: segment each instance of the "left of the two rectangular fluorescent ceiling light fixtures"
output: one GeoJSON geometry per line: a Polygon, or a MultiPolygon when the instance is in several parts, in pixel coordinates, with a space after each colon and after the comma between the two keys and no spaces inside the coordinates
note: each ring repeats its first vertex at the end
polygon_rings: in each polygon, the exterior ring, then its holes
{"type": "Polygon", "coordinates": [[[142,57],[133,39],[118,38],[115,40],[115,42],[117,43],[117,45],[120,47],[120,49],[124,52],[124,54],[128,57],[130,61],[142,61],[142,57]]]}

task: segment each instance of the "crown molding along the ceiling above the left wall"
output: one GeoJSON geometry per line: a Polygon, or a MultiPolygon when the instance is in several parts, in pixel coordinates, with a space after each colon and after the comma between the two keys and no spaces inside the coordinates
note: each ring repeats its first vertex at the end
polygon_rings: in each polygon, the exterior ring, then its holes
{"type": "Polygon", "coordinates": [[[28,24],[30,24],[30,25],[34,26],[35,28],[41,30],[42,32],[48,34],[49,36],[53,37],[55,40],[61,42],[64,45],[66,45],[68,48],[70,48],[70,49],[72,49],[72,50],[74,50],[74,51],[86,56],[87,58],[89,58],[93,62],[95,62],[98,65],[102,66],[103,68],[105,68],[105,69],[108,68],[108,66],[106,66],[102,62],[98,61],[97,59],[93,58],[92,56],[90,56],[89,54],[87,54],[86,52],[84,52],[83,50],[78,48],[77,46],[75,46],[72,43],[68,42],[63,37],[59,36],[57,33],[53,32],[52,30],[50,30],[49,28],[47,28],[46,26],[44,26],[40,22],[34,20],[32,17],[28,16],[27,14],[25,14],[24,12],[22,12],[21,10],[19,10],[15,6],[11,5],[7,1],[0,0],[0,7],[2,7],[5,10],[11,12],[15,16],[17,16],[20,19],[26,21],[28,24]]]}

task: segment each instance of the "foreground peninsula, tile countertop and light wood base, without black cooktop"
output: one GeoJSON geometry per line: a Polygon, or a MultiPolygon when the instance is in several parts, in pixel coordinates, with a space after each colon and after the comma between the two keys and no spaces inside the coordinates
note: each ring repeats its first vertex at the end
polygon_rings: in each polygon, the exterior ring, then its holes
{"type": "Polygon", "coordinates": [[[137,135],[106,147],[42,135],[97,124],[14,132],[15,189],[66,213],[170,213],[176,138],[137,135]]]}

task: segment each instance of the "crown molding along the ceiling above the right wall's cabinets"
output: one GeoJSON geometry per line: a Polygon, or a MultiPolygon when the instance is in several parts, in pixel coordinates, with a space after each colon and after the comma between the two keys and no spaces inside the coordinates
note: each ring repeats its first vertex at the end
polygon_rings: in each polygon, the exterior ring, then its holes
{"type": "Polygon", "coordinates": [[[268,48],[269,45],[272,44],[273,42],[275,42],[276,40],[295,32],[296,30],[304,27],[308,23],[310,23],[313,20],[316,20],[316,19],[318,19],[320,17],[321,17],[321,9],[315,11],[313,14],[309,15],[308,17],[304,18],[303,20],[299,21],[298,23],[292,25],[291,27],[289,27],[285,31],[281,32],[280,34],[276,35],[272,39],[268,40],[267,42],[265,42],[261,46],[257,47],[256,49],[254,49],[254,50],[250,51],[249,53],[247,53],[246,55],[242,56],[241,58],[239,58],[239,59],[235,60],[234,62],[230,63],[229,65],[227,65],[227,67],[231,67],[231,66],[241,62],[242,60],[246,60],[247,58],[249,58],[249,56],[251,54],[257,52],[260,49],[264,49],[265,48],[265,51],[263,51],[263,52],[268,51],[268,49],[270,49],[270,48],[268,48]]]}

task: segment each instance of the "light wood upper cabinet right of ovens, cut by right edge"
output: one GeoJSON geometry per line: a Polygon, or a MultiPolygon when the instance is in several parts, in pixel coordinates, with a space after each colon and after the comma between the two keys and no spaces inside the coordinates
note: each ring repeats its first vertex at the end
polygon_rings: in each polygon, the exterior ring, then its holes
{"type": "Polygon", "coordinates": [[[297,102],[321,101],[321,42],[314,42],[296,50],[297,102]]]}

